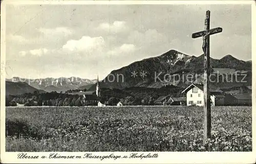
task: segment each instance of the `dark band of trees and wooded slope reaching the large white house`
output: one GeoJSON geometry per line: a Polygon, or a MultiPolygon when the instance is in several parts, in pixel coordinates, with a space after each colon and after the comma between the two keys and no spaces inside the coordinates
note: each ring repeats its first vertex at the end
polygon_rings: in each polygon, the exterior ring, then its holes
{"type": "MultiPolygon", "coordinates": [[[[101,89],[101,97],[95,99],[95,95],[89,98],[86,96],[70,95],[66,93],[46,92],[25,93],[17,96],[6,96],[6,106],[16,106],[24,104],[25,106],[96,106],[98,101],[108,103],[108,105],[116,105],[121,102],[123,105],[154,105],[154,101],[163,95],[169,95],[180,92],[181,88],[174,86],[165,86],[162,88],[126,88],[120,89],[101,89]]],[[[71,91],[73,92],[73,91],[71,91]]]]}

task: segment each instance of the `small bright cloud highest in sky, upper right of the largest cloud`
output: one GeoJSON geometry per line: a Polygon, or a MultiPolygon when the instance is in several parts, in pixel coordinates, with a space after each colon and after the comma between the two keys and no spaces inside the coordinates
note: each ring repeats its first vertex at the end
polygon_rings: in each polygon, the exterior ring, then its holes
{"type": "Polygon", "coordinates": [[[125,21],[114,21],[113,24],[102,23],[98,26],[98,29],[110,32],[110,33],[120,33],[127,30],[125,21]]]}

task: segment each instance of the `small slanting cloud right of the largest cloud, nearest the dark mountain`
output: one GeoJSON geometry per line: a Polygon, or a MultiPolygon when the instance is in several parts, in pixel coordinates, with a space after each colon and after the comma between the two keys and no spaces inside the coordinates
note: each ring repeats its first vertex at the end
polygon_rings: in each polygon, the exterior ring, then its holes
{"type": "Polygon", "coordinates": [[[130,54],[135,52],[136,46],[134,44],[122,44],[120,47],[115,48],[114,50],[110,50],[108,55],[122,55],[122,54],[130,54]]]}

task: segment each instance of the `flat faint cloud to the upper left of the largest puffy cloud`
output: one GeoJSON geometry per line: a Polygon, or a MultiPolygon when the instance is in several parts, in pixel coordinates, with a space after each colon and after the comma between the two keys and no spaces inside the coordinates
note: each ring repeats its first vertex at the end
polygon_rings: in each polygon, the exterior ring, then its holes
{"type": "Polygon", "coordinates": [[[47,28],[40,28],[38,29],[39,32],[43,33],[47,36],[56,36],[56,35],[62,35],[62,36],[68,36],[73,33],[72,29],[67,27],[57,27],[53,29],[47,29],[47,28]]]}

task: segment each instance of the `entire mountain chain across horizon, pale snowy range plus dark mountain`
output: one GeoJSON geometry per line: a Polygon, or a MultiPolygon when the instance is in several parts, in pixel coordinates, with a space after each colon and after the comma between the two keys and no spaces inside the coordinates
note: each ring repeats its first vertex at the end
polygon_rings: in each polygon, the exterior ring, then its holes
{"type": "MultiPolygon", "coordinates": [[[[227,78],[236,73],[246,74],[244,80],[247,83],[239,82],[227,82],[224,80],[220,82],[212,82],[220,88],[233,87],[238,85],[251,85],[251,61],[243,61],[226,55],[221,59],[210,58],[210,71],[212,74],[222,74],[227,78]]],[[[121,67],[120,69],[113,70],[108,76],[106,76],[101,82],[100,86],[105,88],[130,88],[130,87],[147,87],[147,88],[160,88],[166,85],[174,85],[178,87],[186,87],[191,83],[202,83],[202,77],[191,80],[181,79],[177,81],[177,77],[186,77],[190,75],[203,75],[204,71],[204,55],[189,56],[176,50],[170,50],[160,56],[143,59],[136,61],[130,65],[121,67]],[[111,75],[111,76],[110,76],[111,75]],[[113,79],[113,77],[115,79],[113,79]],[[157,77],[157,78],[156,78],[157,77]]],[[[219,76],[219,75],[218,75],[219,76]]],[[[234,77],[232,77],[234,78],[234,77]]],[[[242,79],[239,77],[238,79],[242,79]]],[[[70,89],[96,89],[97,79],[81,79],[81,78],[45,78],[45,79],[20,79],[14,77],[12,79],[6,79],[7,82],[16,82],[20,85],[20,82],[25,82],[38,90],[51,91],[66,91],[70,89]]],[[[12,84],[14,85],[14,84],[12,84]]],[[[28,87],[28,86],[26,86],[28,87]]],[[[10,89],[10,88],[7,88],[10,89]]],[[[25,89],[30,90],[30,89],[25,89]]],[[[13,91],[11,91],[14,93],[13,91]]]]}

